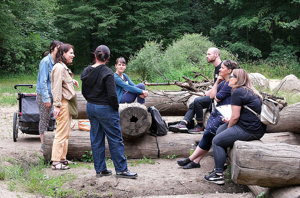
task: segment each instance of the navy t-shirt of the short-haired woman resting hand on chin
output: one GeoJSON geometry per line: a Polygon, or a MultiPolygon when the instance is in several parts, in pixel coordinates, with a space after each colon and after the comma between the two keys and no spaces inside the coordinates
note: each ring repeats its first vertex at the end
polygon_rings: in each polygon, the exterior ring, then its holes
{"type": "Polygon", "coordinates": [[[230,104],[232,87],[229,87],[228,84],[229,84],[229,80],[227,81],[227,83],[225,83],[225,80],[219,83],[217,87],[216,98],[221,101],[217,102],[216,107],[220,105],[230,104]]]}

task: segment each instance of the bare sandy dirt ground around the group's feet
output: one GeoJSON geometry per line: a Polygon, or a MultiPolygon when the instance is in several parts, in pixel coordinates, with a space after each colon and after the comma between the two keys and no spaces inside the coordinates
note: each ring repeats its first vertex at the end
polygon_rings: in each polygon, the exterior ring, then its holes
{"type": "MultiPolygon", "coordinates": [[[[13,157],[26,161],[36,160],[42,156],[39,152],[40,139],[37,135],[19,133],[17,142],[12,140],[13,112],[17,107],[0,107],[0,155],[13,157]]],[[[177,120],[178,117],[168,117],[168,122],[177,120]]],[[[224,185],[212,184],[204,180],[204,175],[213,168],[213,158],[210,156],[202,159],[201,168],[183,170],[176,160],[155,159],[155,164],[140,164],[128,168],[138,172],[137,179],[118,179],[113,176],[95,177],[93,164],[84,164],[84,167],[71,168],[68,173],[77,176],[71,182],[65,183],[64,188],[73,188],[84,192],[82,197],[159,197],[159,198],[187,198],[187,197],[255,197],[249,188],[226,182],[224,185]],[[118,185],[115,186],[118,182],[118,185]],[[125,190],[125,191],[124,191],[125,190]]],[[[65,171],[47,170],[53,176],[61,175],[65,171]]],[[[0,197],[44,197],[22,192],[8,190],[8,182],[0,181],[0,197]]],[[[69,196],[74,197],[74,196],[69,196]]]]}

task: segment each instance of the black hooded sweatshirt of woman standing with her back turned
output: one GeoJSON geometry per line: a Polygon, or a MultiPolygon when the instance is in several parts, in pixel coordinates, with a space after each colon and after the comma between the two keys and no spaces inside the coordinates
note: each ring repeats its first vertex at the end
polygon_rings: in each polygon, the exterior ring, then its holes
{"type": "Polygon", "coordinates": [[[88,66],[83,70],[80,80],[81,93],[88,103],[111,105],[115,111],[119,110],[113,70],[106,65],[88,66]]]}

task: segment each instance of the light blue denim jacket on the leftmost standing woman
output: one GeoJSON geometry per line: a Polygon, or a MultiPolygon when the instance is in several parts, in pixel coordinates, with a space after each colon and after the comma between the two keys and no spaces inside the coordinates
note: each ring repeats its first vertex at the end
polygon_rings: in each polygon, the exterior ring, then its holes
{"type": "Polygon", "coordinates": [[[43,102],[51,102],[51,72],[54,66],[54,60],[50,54],[45,56],[39,65],[37,75],[37,89],[35,90],[38,94],[42,95],[43,102]]]}

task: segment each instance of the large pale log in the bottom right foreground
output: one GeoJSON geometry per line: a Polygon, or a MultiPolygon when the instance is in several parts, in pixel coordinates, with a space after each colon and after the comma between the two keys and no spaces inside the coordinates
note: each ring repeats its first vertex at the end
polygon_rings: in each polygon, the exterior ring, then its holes
{"type": "Polygon", "coordinates": [[[236,141],[228,153],[235,183],[262,187],[300,184],[300,146],[236,141]]]}

